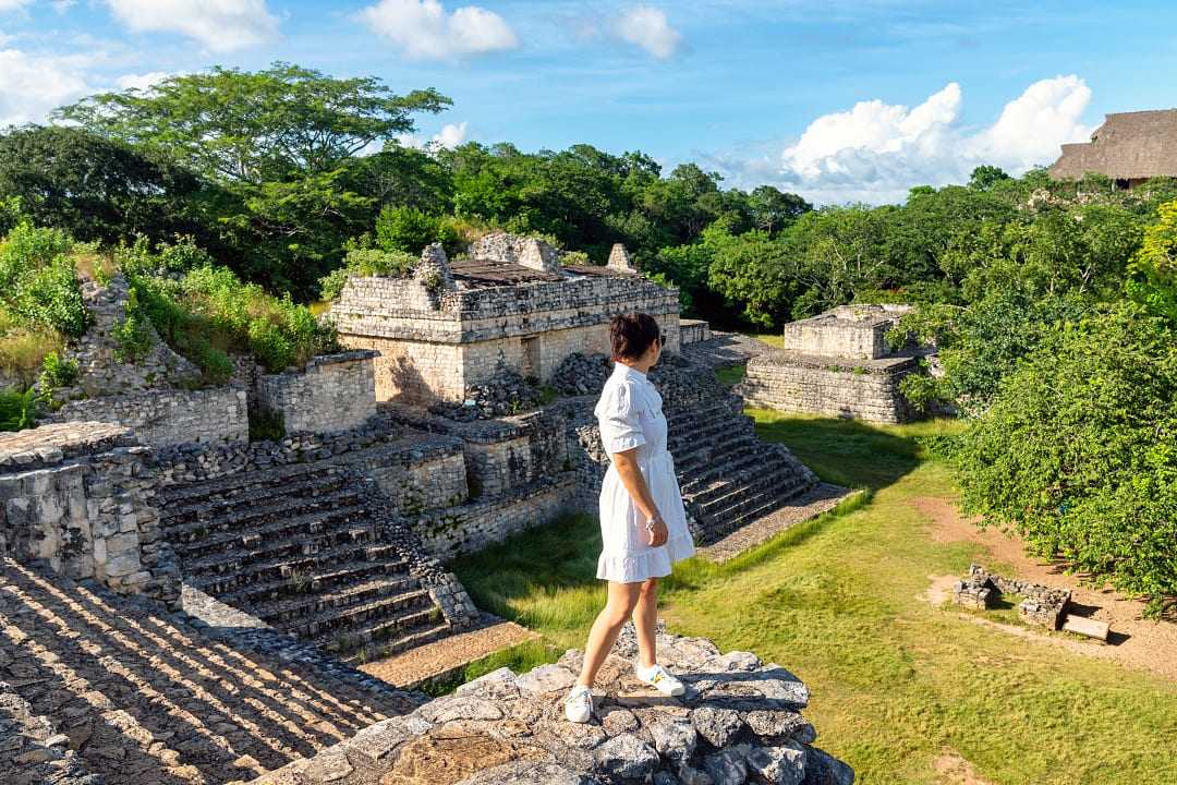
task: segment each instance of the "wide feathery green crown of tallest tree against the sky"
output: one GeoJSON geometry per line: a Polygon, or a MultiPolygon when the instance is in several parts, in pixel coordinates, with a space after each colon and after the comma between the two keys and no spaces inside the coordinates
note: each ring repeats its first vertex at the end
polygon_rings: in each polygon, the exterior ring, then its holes
{"type": "Polygon", "coordinates": [[[166,149],[217,180],[260,185],[335,169],[374,142],[412,132],[414,114],[451,104],[434,89],[397,95],[374,76],[333,79],[274,62],[257,72],[217,66],[146,91],[100,93],[55,118],[166,149]]]}

